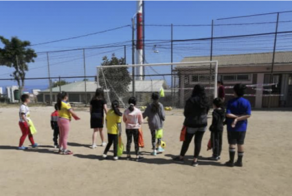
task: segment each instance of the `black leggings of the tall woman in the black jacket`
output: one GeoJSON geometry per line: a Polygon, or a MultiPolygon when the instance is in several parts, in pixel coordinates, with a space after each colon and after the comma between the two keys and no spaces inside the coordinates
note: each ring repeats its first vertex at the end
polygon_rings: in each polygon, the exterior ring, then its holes
{"type": "Polygon", "coordinates": [[[194,158],[198,158],[201,151],[202,139],[205,131],[196,131],[195,133],[186,132],[186,138],[183,142],[183,146],[181,146],[181,156],[186,155],[188,151],[188,146],[190,146],[190,142],[192,142],[192,137],[194,137],[194,158]]]}

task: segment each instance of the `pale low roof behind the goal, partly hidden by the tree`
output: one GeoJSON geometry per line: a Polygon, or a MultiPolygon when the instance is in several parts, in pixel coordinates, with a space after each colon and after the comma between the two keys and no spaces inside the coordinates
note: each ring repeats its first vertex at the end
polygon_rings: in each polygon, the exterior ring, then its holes
{"type": "MultiPolygon", "coordinates": [[[[87,81],[87,92],[93,93],[97,89],[96,82],[87,81]]],[[[165,80],[135,80],[135,91],[136,92],[153,92],[153,91],[160,91],[161,87],[167,89],[166,81],[165,80]]],[[[132,83],[129,85],[129,90],[132,91],[132,83]]],[[[76,83],[69,83],[67,85],[61,86],[62,91],[66,91],[68,93],[76,93],[76,92],[85,92],[85,82],[80,81],[76,83]]],[[[59,92],[59,87],[52,88],[52,92],[59,92]]],[[[49,89],[45,89],[41,92],[49,92],[49,89]]]]}

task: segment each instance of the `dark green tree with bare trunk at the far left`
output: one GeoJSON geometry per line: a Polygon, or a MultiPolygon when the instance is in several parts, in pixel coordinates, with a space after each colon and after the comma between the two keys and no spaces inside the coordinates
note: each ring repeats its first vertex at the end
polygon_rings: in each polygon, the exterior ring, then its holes
{"type": "Polygon", "coordinates": [[[11,74],[19,85],[19,94],[21,95],[25,85],[25,74],[28,71],[27,63],[34,63],[36,53],[29,48],[30,41],[21,41],[16,36],[11,40],[0,36],[4,47],[0,47],[0,65],[13,67],[14,72],[11,74]]]}

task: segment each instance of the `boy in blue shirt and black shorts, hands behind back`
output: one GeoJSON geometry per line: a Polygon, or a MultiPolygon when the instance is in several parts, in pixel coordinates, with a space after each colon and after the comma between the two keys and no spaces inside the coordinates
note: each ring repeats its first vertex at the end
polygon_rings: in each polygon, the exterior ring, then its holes
{"type": "Polygon", "coordinates": [[[234,86],[234,98],[229,100],[226,110],[227,118],[227,137],[229,143],[229,161],[226,166],[243,166],[243,144],[245,142],[245,133],[247,131],[247,118],[251,116],[250,102],[243,98],[245,89],[243,84],[234,86]],[[238,151],[238,160],[234,164],[234,157],[238,151]]]}

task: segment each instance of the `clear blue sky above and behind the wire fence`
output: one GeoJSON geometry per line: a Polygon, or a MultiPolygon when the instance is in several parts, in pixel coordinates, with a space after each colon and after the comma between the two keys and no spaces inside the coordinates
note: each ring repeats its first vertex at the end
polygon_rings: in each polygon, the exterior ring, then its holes
{"type": "MultiPolygon", "coordinates": [[[[146,24],[210,24],[212,19],[235,17],[240,15],[260,14],[265,12],[286,11],[292,8],[291,1],[146,1],[146,24]]],[[[89,34],[101,30],[116,28],[131,24],[131,17],[135,13],[135,1],[0,1],[0,35],[10,38],[31,41],[32,44],[64,39],[71,36],[89,34]]],[[[267,19],[267,18],[265,18],[267,19]]],[[[274,16],[273,16],[274,19],[274,16]]],[[[271,20],[273,20],[271,19],[271,20]]],[[[252,22],[246,19],[245,22],[252,22]]],[[[267,21],[270,21],[268,18],[267,21]]],[[[252,31],[252,30],[250,30],[252,31]]],[[[220,32],[218,32],[220,34],[220,32]]],[[[206,28],[175,28],[174,39],[193,39],[209,37],[210,27],[206,28]]],[[[146,39],[170,39],[170,28],[146,28],[146,39]]],[[[47,45],[33,47],[36,52],[71,49],[106,43],[116,43],[131,40],[131,28],[123,28],[113,32],[88,36],[47,45]]],[[[2,45],[0,45],[2,46],[2,45]]],[[[117,51],[104,49],[97,52],[88,52],[91,58],[87,59],[87,74],[95,73],[95,66],[101,61],[104,54],[115,52],[117,56],[124,54],[122,48],[117,51]]],[[[127,58],[131,59],[130,48],[127,49],[127,58]]],[[[187,55],[187,54],[186,54],[187,55]]],[[[82,73],[82,52],[67,52],[52,54],[52,64],[67,61],[71,58],[76,61],[70,65],[62,65],[58,69],[52,67],[52,75],[73,76],[82,73]],[[55,56],[54,56],[55,55],[55,56]],[[67,56],[66,58],[64,56],[67,56]],[[64,58],[63,58],[64,57],[64,58]],[[80,59],[78,59],[80,58],[80,59]],[[67,66],[67,67],[66,67],[67,66]],[[71,67],[70,67],[71,66],[71,67]]],[[[184,54],[175,56],[180,61],[184,54]]],[[[168,54],[152,56],[148,54],[148,62],[168,62],[168,54]]],[[[39,55],[36,63],[30,65],[32,69],[28,76],[47,76],[45,55],[39,55]]],[[[73,61],[73,60],[72,60],[73,61]]],[[[0,67],[0,78],[8,78],[11,69],[0,67]]],[[[31,84],[32,82],[28,82],[31,84]]],[[[33,82],[35,83],[35,82],[33,82]]],[[[46,82],[40,81],[42,85],[46,82]]],[[[0,81],[0,86],[8,85],[0,81]]]]}

